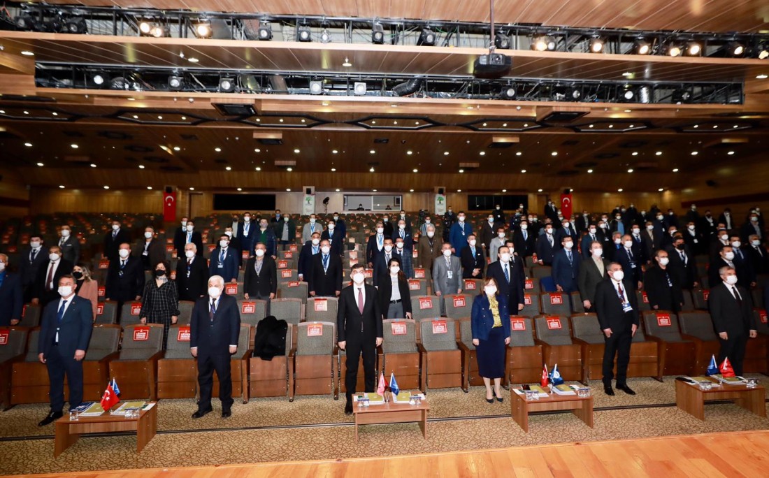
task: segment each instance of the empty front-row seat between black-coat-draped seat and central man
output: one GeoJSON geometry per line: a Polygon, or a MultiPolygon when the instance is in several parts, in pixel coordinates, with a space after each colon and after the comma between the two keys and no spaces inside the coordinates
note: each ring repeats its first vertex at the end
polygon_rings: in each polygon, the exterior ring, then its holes
{"type": "Polygon", "coordinates": [[[339,397],[339,349],[332,322],[302,322],[296,326],[296,348],[288,357],[288,400],[295,395],[339,397]]]}

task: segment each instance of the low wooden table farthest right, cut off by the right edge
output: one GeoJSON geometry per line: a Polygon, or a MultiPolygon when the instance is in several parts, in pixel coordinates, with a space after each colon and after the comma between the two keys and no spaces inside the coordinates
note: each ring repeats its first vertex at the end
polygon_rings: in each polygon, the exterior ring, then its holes
{"type": "MultiPolygon", "coordinates": [[[[719,383],[713,377],[707,377],[714,383],[719,383]]],[[[721,387],[714,387],[711,390],[701,390],[698,385],[676,380],[675,383],[675,404],[684,412],[705,420],[705,401],[706,400],[734,400],[734,403],[750,410],[759,417],[767,416],[766,403],[764,403],[764,387],[748,388],[747,385],[727,385],[721,383],[721,387]]]]}

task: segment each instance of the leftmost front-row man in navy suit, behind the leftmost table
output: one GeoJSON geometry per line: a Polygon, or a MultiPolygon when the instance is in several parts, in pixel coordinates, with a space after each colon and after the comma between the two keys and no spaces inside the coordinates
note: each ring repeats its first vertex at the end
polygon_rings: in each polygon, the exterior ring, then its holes
{"type": "Polygon", "coordinates": [[[91,301],[75,295],[75,278],[69,274],[58,279],[58,300],[45,306],[38,336],[38,360],[48,368],[48,396],[51,411],[39,427],[62,417],[64,377],[69,387],[69,410],[83,401],[83,363],[93,330],[91,301]]]}

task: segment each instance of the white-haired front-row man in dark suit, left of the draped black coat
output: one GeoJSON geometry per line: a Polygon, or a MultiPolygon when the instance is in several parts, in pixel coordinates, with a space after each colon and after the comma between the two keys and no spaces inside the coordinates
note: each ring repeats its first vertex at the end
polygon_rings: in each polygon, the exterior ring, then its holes
{"type": "Polygon", "coordinates": [[[219,379],[221,417],[231,416],[232,378],[230,356],[238,351],[240,311],[235,297],[224,293],[225,280],[221,276],[208,279],[208,296],[198,299],[192,307],[190,320],[190,353],[198,357],[198,411],[192,418],[203,417],[211,409],[211,389],[214,370],[219,379]]]}

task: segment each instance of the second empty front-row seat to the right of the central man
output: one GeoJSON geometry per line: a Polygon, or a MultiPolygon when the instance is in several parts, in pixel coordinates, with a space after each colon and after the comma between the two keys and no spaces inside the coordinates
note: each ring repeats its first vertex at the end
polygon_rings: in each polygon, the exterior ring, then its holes
{"type": "Polygon", "coordinates": [[[421,363],[421,390],[461,387],[461,350],[457,344],[454,319],[419,320],[421,342],[417,344],[421,363]]]}

